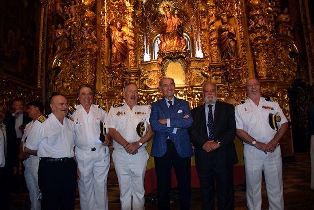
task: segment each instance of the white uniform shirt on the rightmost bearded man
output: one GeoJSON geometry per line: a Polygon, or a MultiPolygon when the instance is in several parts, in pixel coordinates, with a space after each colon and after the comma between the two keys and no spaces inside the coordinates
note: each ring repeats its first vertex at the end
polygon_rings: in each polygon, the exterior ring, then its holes
{"type": "MultiPolygon", "coordinates": [[[[279,128],[281,124],[287,122],[277,102],[266,101],[265,98],[260,97],[257,106],[250,98],[247,98],[245,103],[235,107],[236,128],[244,130],[259,142],[268,143],[277,132],[270,127],[268,119],[270,113],[280,116],[281,120],[277,122],[279,128]]],[[[244,142],[244,144],[247,143],[244,142]]]]}

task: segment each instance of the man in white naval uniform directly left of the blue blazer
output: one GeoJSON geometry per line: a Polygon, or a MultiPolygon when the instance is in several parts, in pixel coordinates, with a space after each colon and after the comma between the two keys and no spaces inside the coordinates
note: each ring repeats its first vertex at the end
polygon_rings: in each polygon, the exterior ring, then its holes
{"type": "Polygon", "coordinates": [[[117,173],[122,210],[144,209],[144,176],[149,158],[146,142],[154,132],[149,125],[149,105],[137,103],[135,83],[124,87],[125,103],[112,105],[105,127],[113,141],[113,163],[117,173]]]}

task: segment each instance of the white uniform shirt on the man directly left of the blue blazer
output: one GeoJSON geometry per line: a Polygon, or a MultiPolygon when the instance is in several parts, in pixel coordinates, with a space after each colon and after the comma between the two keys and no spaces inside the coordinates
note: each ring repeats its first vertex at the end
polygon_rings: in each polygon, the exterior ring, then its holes
{"type": "MultiPolygon", "coordinates": [[[[147,131],[147,125],[149,124],[151,108],[149,105],[135,105],[130,110],[130,107],[126,103],[120,103],[120,105],[122,106],[117,108],[111,106],[105,127],[116,129],[129,143],[139,141],[141,137],[137,134],[136,127],[140,122],[145,122],[144,136],[147,131]]],[[[143,146],[146,145],[147,143],[143,144],[143,146]]],[[[123,146],[116,141],[113,141],[113,148],[124,150],[123,146]]]]}

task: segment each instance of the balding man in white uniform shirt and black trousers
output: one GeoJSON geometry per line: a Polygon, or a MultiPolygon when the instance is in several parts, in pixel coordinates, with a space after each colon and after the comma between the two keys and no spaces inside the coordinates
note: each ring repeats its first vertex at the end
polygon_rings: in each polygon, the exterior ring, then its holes
{"type": "Polygon", "coordinates": [[[28,134],[25,152],[40,157],[38,185],[44,210],[74,209],[79,170],[74,158],[74,122],[68,119],[67,99],[54,94],[52,113],[28,134]]]}

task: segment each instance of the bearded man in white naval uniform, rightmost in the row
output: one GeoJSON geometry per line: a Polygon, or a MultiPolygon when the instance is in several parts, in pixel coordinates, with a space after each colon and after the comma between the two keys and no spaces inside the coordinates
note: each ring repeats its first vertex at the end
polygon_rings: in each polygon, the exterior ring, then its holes
{"type": "Polygon", "coordinates": [[[235,107],[236,133],[244,144],[246,199],[249,210],[260,210],[264,171],[269,210],[283,210],[282,159],[279,140],[288,128],[280,106],[261,97],[257,79],[245,83],[248,98],[235,107]]]}

